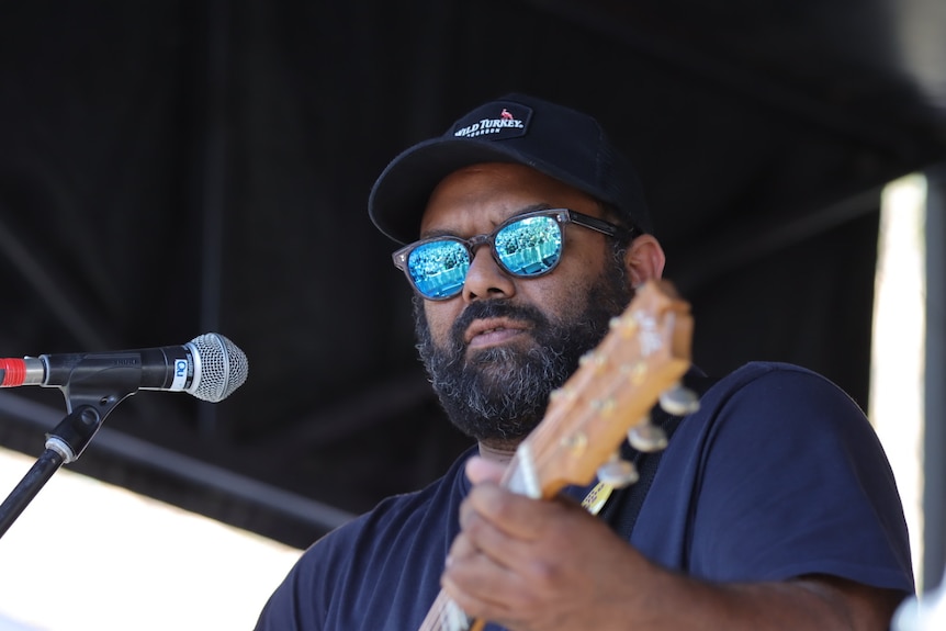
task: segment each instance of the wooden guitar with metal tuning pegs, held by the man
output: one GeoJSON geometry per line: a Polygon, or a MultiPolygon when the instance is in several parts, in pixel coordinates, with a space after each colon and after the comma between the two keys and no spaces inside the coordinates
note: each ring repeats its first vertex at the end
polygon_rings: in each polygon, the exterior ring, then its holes
{"type": "MultiPolygon", "coordinates": [[[[679,386],[690,365],[692,317],[667,281],[649,281],[628,308],[612,318],[598,347],[549,398],[545,417],[522,441],[505,471],[503,485],[536,498],[551,498],[570,484],[588,485],[601,465],[617,460],[626,439],[638,449],[662,448],[649,413],[658,401],[671,414],[698,405],[679,386]]],[[[631,473],[631,480],[633,474],[631,473]]],[[[419,631],[478,631],[441,590],[419,631]]]]}

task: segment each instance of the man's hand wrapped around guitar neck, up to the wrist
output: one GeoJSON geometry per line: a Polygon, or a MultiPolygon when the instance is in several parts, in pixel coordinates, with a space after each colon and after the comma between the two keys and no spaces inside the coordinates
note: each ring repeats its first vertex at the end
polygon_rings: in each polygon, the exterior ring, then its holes
{"type": "Polygon", "coordinates": [[[643,605],[628,594],[652,564],[576,503],[502,488],[499,465],[474,458],[466,474],[474,488],[442,579],[466,613],[517,631],[627,624],[629,607],[643,605]]]}

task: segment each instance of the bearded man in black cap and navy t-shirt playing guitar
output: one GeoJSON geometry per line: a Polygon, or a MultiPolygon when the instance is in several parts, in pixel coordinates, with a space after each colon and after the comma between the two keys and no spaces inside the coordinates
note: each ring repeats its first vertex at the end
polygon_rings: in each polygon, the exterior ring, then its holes
{"type": "Polygon", "coordinates": [[[497,484],[549,393],[663,271],[634,172],[594,119],[517,94],[482,105],[395,158],[369,210],[410,243],[394,258],[418,349],[477,450],[315,543],[259,630],[463,628],[425,622],[441,588],[487,629],[888,628],[913,589],[893,478],[863,413],[803,369],[711,385],[630,538],[574,500],[588,489],[497,484]]]}

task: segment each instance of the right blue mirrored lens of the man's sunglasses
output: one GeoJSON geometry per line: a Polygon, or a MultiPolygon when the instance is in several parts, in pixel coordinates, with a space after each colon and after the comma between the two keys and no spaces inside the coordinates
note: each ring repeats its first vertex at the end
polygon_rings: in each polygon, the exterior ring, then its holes
{"type": "Polygon", "coordinates": [[[554,217],[529,217],[496,235],[496,256],[514,274],[542,274],[562,257],[562,229],[554,217]]]}

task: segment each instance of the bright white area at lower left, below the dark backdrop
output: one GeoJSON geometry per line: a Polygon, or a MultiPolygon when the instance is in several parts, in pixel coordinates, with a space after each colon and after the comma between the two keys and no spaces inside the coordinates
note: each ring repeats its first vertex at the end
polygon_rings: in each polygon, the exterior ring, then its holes
{"type": "MultiPolygon", "coordinates": [[[[3,498],[34,462],[0,449],[3,498]]],[[[299,555],[64,466],[0,538],[0,631],[250,630],[299,555]]]]}

